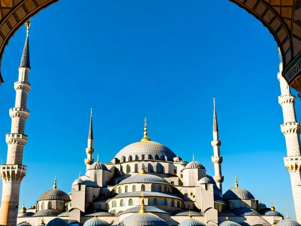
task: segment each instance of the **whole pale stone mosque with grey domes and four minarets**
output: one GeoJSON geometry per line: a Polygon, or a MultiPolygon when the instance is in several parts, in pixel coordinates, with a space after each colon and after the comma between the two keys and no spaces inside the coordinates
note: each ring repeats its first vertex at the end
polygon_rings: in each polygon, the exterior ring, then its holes
{"type": "MultiPolygon", "coordinates": [[[[205,166],[194,158],[186,162],[168,147],[152,141],[147,135],[146,118],[140,141],[121,149],[111,162],[101,163],[98,155],[95,161],[91,109],[85,174],[75,178],[70,193],[59,190],[59,175],[55,176],[53,188],[37,197],[34,206],[26,209],[23,202],[18,213],[20,184],[26,173],[22,158],[27,141],[25,121],[29,117],[27,94],[31,87],[28,82],[29,21],[26,28],[19,79],[14,85],[16,102],[15,107],[10,109],[11,133],[6,134],[7,163],[0,165],[3,182],[0,225],[301,226],[288,217],[284,219],[281,213],[275,211],[273,203],[267,207],[248,190],[238,186],[236,176],[234,187],[222,192],[223,158],[215,101],[211,142],[213,177],[207,175],[205,166]]],[[[279,61],[279,67],[281,71],[282,61],[279,61]]],[[[280,76],[278,79],[282,95],[278,100],[283,108],[285,123],[281,125],[281,131],[287,141],[288,156],[294,156],[285,157],[284,162],[293,175],[293,184],[298,182],[296,175],[300,175],[299,165],[295,164],[299,159],[301,161],[301,157],[296,157],[300,156],[300,124],[296,122],[296,98],[290,93],[286,81],[280,76]]],[[[298,195],[293,190],[294,200],[298,195]]],[[[295,200],[296,212],[300,212],[298,205],[295,200]]]]}

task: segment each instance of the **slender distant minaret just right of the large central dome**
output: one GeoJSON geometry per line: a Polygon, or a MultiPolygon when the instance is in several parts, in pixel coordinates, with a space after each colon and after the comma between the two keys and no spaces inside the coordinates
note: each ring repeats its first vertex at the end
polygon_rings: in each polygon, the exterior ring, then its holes
{"type": "Polygon", "coordinates": [[[222,162],[223,157],[219,152],[219,147],[221,146],[221,141],[219,140],[219,129],[217,127],[216,111],[215,111],[215,99],[213,98],[213,141],[211,141],[213,146],[213,156],[211,157],[214,163],[214,176],[213,179],[216,182],[217,187],[222,191],[222,183],[224,181],[224,176],[222,176],[222,162]]]}

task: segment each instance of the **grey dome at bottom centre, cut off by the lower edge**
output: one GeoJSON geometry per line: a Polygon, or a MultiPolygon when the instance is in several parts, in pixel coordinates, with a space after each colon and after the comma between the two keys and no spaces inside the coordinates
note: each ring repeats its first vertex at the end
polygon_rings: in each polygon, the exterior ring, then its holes
{"type": "Polygon", "coordinates": [[[120,221],[118,226],[168,226],[168,224],[152,213],[135,213],[120,221]]]}

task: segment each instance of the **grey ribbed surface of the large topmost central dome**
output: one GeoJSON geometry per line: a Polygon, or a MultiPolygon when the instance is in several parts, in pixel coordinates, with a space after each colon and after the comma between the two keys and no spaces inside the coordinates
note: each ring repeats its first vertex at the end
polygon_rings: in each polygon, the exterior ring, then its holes
{"type": "Polygon", "coordinates": [[[155,156],[158,155],[159,160],[163,161],[165,160],[165,156],[167,161],[173,161],[173,158],[176,156],[172,150],[160,143],[154,141],[140,141],[129,144],[121,149],[117,155],[115,155],[115,158],[121,159],[122,156],[125,156],[127,161],[130,155],[132,156],[132,160],[135,160],[135,155],[138,155],[140,160],[142,155],[144,155],[145,159],[148,159],[148,155],[151,155],[152,159],[156,159],[155,156]]]}

